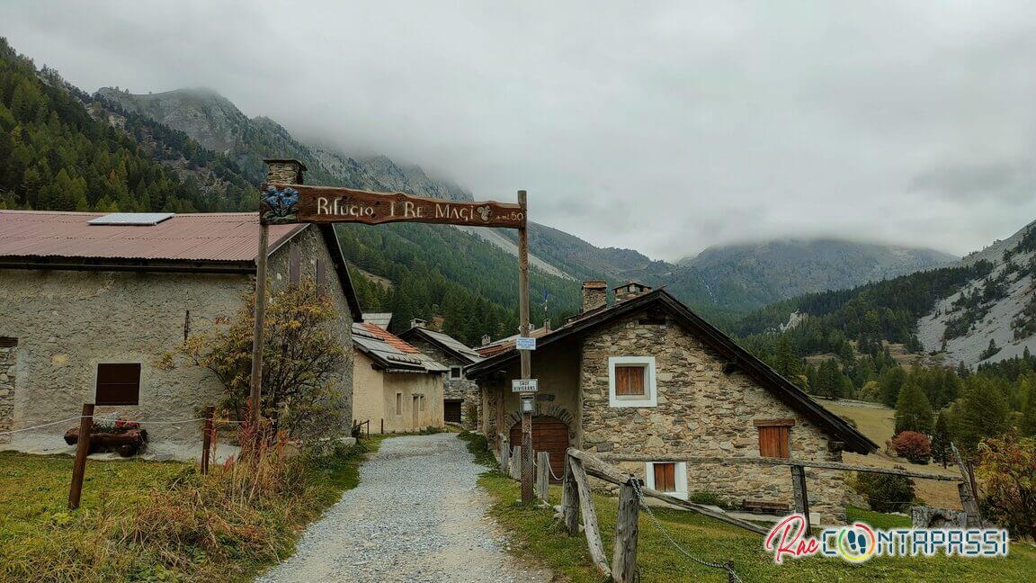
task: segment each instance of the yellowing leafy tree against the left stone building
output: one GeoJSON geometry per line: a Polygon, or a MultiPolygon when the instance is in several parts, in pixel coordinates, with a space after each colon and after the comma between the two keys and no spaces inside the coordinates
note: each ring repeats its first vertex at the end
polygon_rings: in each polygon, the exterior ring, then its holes
{"type": "MultiPolygon", "coordinates": [[[[191,336],[165,367],[181,362],[211,370],[226,392],[222,406],[246,418],[252,372],[253,295],[231,324],[191,336]]],[[[312,279],[274,293],[266,306],[263,345],[262,415],[274,433],[312,442],[317,437],[344,435],[344,387],[340,386],[348,359],[333,326],[338,311],[330,298],[317,293],[312,279]]]]}

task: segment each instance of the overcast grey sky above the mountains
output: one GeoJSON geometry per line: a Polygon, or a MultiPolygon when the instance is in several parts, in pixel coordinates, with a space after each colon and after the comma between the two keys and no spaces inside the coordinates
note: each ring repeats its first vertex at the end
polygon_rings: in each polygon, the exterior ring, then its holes
{"type": "Polygon", "coordinates": [[[1036,219],[1033,2],[4,2],[92,91],[205,86],[677,259],[837,234],[963,254],[1036,219]]]}

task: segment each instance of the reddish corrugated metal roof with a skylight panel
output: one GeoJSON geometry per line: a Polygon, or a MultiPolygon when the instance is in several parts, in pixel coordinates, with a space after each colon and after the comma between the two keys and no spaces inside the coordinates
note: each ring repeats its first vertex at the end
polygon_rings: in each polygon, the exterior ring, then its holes
{"type": "MultiPolygon", "coordinates": [[[[258,213],[174,215],[156,225],[89,225],[104,213],[0,211],[0,256],[253,261],[258,213]]],[[[276,249],[307,225],[270,225],[276,249]]]]}

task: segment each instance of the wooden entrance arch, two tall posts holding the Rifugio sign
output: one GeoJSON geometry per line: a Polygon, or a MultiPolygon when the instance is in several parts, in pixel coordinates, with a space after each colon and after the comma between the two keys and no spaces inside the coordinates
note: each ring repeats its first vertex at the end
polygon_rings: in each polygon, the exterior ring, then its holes
{"type": "MultiPolygon", "coordinates": [[[[306,166],[297,160],[266,160],[267,184],[260,187],[259,253],[256,256],[255,329],[252,344],[252,418],[258,421],[262,385],[263,321],[266,309],[266,261],[268,225],[293,223],[382,223],[412,222],[501,227],[518,229],[518,298],[521,344],[521,378],[529,379],[529,351],[536,339],[528,338],[528,230],[525,191],[518,191],[518,203],[444,200],[365,190],[303,185],[306,166]],[[526,340],[531,340],[528,344],[526,340]]],[[[533,397],[536,382],[522,396],[521,497],[533,501],[533,397]],[[528,404],[526,406],[525,404],[528,404]],[[527,409],[527,410],[526,410],[527,409]]]]}

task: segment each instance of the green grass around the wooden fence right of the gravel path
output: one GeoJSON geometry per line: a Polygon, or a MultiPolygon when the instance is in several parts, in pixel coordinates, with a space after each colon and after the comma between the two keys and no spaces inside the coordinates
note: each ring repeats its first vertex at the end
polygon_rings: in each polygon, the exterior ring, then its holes
{"type": "MultiPolygon", "coordinates": [[[[582,534],[568,536],[552,518],[550,509],[517,503],[518,483],[498,473],[487,472],[479,482],[493,497],[492,515],[509,530],[516,544],[512,552],[546,564],[573,583],[597,583],[582,534]]],[[[560,490],[551,487],[556,504],[560,490]]],[[[594,502],[601,523],[602,538],[611,560],[612,534],[615,528],[616,501],[595,495],[594,502]]],[[[694,556],[711,561],[732,560],[738,575],[747,581],[1027,581],[1036,574],[1036,550],[1027,544],[1014,544],[1005,558],[969,559],[934,557],[877,557],[864,564],[848,564],[841,559],[811,557],[785,559],[774,564],[764,551],[762,537],[684,510],[654,507],[664,528],[694,556]]],[[[848,517],[879,527],[909,524],[903,517],[881,515],[850,508],[848,517]]],[[[646,516],[640,513],[640,538],[637,553],[641,581],[726,581],[725,573],[692,563],[677,551],[646,516]]]]}

